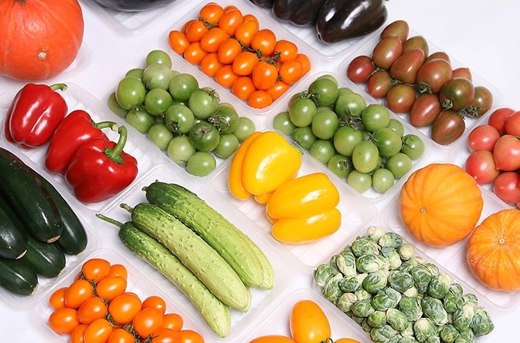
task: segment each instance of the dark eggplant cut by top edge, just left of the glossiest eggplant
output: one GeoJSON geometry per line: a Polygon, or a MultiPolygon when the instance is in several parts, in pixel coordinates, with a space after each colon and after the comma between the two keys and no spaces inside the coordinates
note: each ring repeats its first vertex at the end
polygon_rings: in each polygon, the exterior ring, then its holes
{"type": "Polygon", "coordinates": [[[314,26],[318,10],[327,0],[275,0],[272,12],[282,22],[314,26]]]}

